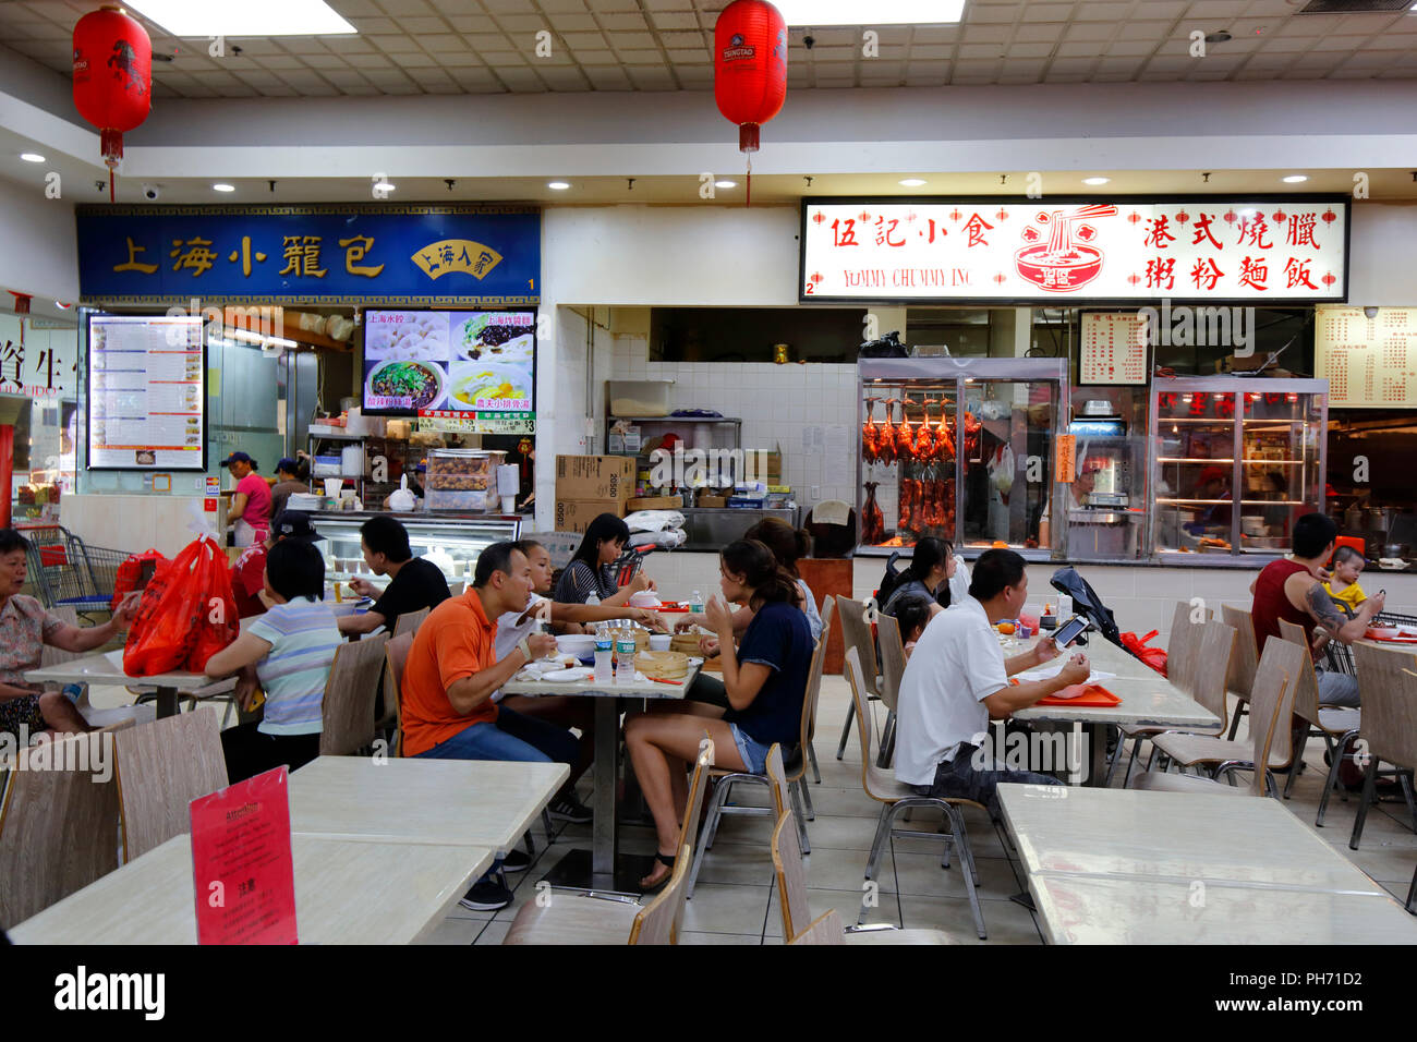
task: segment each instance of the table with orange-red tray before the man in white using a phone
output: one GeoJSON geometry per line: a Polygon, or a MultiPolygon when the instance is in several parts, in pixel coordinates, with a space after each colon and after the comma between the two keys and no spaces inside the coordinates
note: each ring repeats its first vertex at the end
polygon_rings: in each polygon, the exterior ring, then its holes
{"type": "MultiPolygon", "coordinates": [[[[1013,651],[1005,648],[1003,654],[1010,656],[1024,649],[1022,645],[1013,651]]],[[[1115,706],[1030,706],[1013,713],[1013,719],[1073,724],[1076,729],[1085,727],[1090,751],[1085,778],[1088,784],[1101,785],[1107,778],[1107,727],[1110,724],[1144,724],[1183,730],[1219,726],[1220,720],[1214,713],[1165,676],[1101,637],[1095,637],[1090,646],[1078,651],[1087,654],[1094,671],[1117,673],[1112,679],[1102,680],[1101,686],[1117,695],[1121,702],[1115,706]]],[[[1074,654],[1073,648],[1064,648],[1058,652],[1058,658],[1071,654],[1074,654]]]]}

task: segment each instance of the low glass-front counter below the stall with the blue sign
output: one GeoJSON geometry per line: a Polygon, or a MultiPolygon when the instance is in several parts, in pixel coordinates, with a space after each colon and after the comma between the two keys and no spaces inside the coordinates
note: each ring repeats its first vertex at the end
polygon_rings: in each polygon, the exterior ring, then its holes
{"type": "MultiPolygon", "coordinates": [[[[388,580],[376,576],[364,564],[360,550],[360,525],[373,513],[316,513],[310,520],[315,530],[324,536],[316,543],[324,554],[324,578],[329,583],[347,583],[351,578],[367,578],[384,587],[388,580]]],[[[520,539],[519,517],[429,517],[427,515],[395,513],[408,529],[408,546],[414,557],[431,560],[448,578],[448,586],[456,593],[463,583],[472,581],[478,554],[493,543],[520,539]]]]}

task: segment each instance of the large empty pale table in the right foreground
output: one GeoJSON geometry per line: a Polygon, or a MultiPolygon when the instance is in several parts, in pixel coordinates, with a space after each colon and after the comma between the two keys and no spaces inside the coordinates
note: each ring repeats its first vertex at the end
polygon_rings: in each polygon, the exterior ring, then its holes
{"type": "Polygon", "coordinates": [[[1003,784],[999,802],[1053,944],[1417,943],[1275,800],[1003,784]]]}

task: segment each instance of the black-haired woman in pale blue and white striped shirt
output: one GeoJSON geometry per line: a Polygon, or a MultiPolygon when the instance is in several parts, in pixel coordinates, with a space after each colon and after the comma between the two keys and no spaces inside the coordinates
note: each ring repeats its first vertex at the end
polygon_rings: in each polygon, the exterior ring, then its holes
{"type": "Polygon", "coordinates": [[[266,556],[265,593],[273,607],[207,662],[207,676],[241,673],[237,699],[249,709],[259,683],[262,719],[221,733],[227,775],[242,781],[320,754],[324,682],[343,638],[324,603],[324,559],[310,543],[282,539],[266,556]]]}

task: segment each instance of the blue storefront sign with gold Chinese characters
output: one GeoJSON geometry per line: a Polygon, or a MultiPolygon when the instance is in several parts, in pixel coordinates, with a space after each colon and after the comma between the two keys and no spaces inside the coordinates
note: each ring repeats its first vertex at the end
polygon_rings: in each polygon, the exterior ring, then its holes
{"type": "Polygon", "coordinates": [[[81,206],[84,303],[483,306],[541,295],[527,206],[81,206]]]}

